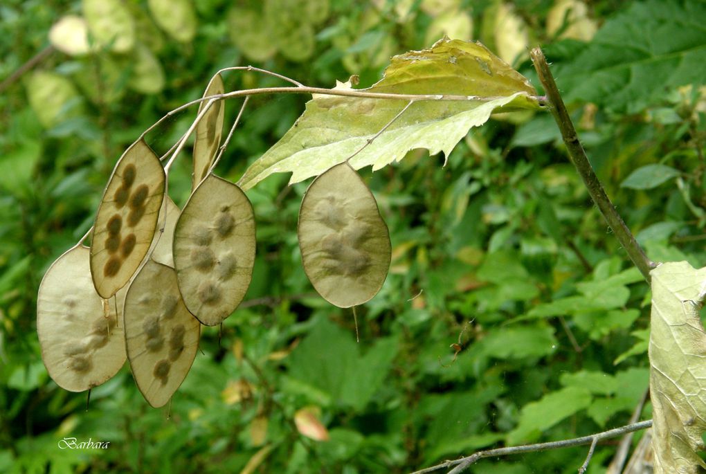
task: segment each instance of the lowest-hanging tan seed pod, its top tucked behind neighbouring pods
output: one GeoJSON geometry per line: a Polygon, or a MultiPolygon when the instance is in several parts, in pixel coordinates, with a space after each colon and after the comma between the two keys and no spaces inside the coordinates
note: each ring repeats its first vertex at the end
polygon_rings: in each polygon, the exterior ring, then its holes
{"type": "Polygon", "coordinates": [[[138,389],[163,406],[184,382],[201,327],[184,306],[174,269],[148,260],[125,298],[125,346],[138,389]]]}

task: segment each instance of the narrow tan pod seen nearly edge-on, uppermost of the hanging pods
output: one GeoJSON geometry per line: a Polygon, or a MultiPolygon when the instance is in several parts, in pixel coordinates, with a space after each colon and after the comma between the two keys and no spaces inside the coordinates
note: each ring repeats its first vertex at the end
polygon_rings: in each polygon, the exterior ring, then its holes
{"type": "MultiPolygon", "coordinates": [[[[222,94],[223,92],[225,92],[223,78],[220,74],[216,74],[211,79],[211,82],[208,83],[203,97],[222,94]]],[[[201,102],[198,107],[199,112],[201,112],[205,103],[201,102]]],[[[224,102],[222,100],[213,102],[208,112],[196,125],[196,138],[193,140],[192,190],[195,190],[198,183],[201,183],[201,180],[208,174],[211,164],[213,164],[223,133],[223,114],[225,114],[224,102]]]]}

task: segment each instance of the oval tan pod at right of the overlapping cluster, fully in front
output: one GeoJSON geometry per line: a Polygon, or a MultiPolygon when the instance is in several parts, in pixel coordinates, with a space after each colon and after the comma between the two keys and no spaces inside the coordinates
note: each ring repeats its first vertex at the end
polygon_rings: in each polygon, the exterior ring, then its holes
{"type": "Polygon", "coordinates": [[[206,326],[220,324],[243,300],[253,265],[253,207],[238,186],[210,174],[174,231],[174,268],[186,308],[206,326]]]}

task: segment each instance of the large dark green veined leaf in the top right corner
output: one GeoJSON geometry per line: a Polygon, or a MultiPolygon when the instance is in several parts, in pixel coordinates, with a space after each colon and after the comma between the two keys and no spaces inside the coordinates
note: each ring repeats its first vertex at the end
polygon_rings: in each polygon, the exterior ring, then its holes
{"type": "Polygon", "coordinates": [[[698,0],[630,2],[569,63],[557,65],[564,99],[635,112],[670,88],[703,84],[704,18],[706,4],[698,0]]]}

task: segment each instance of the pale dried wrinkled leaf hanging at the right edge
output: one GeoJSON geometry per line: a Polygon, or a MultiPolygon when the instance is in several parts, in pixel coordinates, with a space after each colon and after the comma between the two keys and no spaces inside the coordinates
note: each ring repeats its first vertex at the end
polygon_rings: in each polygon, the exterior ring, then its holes
{"type": "Polygon", "coordinates": [[[668,262],[652,275],[650,399],[654,472],[697,473],[706,430],[706,268],[668,262]]]}

